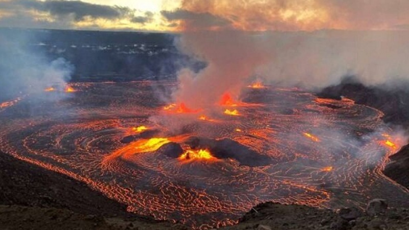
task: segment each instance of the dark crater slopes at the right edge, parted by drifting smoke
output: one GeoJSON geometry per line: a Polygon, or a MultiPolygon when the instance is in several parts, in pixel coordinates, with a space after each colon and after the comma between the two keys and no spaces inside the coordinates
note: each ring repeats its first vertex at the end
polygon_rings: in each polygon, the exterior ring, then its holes
{"type": "MultiPolygon", "coordinates": [[[[409,83],[402,82],[399,87],[367,87],[354,79],[347,78],[339,85],[324,88],[318,96],[323,98],[347,97],[355,103],[368,105],[384,113],[383,120],[392,125],[402,126],[409,130],[409,83]]],[[[391,163],[384,174],[401,185],[409,188],[409,145],[392,155],[391,163]]]]}

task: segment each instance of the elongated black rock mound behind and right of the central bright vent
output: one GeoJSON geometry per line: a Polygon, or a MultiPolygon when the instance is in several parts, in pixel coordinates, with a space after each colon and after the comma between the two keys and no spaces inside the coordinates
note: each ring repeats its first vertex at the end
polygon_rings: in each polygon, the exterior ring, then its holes
{"type": "Polygon", "coordinates": [[[191,137],[186,143],[193,149],[209,149],[212,155],[217,158],[236,159],[240,165],[256,167],[272,163],[271,158],[230,139],[217,141],[201,137],[191,137]]]}

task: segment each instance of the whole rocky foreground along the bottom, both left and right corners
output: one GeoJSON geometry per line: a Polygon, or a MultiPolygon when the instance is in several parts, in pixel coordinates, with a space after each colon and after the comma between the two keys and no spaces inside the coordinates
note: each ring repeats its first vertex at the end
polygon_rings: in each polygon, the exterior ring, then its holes
{"type": "MultiPolygon", "coordinates": [[[[65,175],[0,153],[0,229],[189,229],[126,212],[65,175]]],[[[303,205],[263,203],[223,229],[409,229],[409,210],[374,200],[368,209],[338,212],[303,205]]]]}

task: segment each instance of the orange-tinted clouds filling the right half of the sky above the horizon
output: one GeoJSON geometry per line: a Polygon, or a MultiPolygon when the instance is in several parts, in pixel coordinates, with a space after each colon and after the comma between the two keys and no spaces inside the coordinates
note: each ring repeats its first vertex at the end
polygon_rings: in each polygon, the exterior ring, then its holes
{"type": "Polygon", "coordinates": [[[210,14],[244,31],[373,30],[409,24],[409,1],[402,0],[184,0],[181,10],[210,14]]]}

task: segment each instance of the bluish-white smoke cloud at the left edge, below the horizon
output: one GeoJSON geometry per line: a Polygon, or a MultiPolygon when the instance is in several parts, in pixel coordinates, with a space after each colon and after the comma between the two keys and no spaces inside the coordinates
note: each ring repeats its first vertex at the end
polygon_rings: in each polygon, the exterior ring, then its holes
{"type": "Polygon", "coordinates": [[[71,79],[73,66],[63,58],[48,58],[32,43],[32,33],[5,34],[0,35],[0,100],[44,94],[47,87],[64,87],[71,79]]]}

